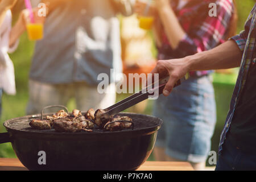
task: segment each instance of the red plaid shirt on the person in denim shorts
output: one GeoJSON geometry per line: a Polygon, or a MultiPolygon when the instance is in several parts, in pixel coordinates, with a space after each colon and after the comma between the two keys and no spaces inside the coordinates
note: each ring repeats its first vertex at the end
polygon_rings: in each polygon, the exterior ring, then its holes
{"type": "MultiPolygon", "coordinates": [[[[163,32],[163,44],[158,48],[158,59],[175,59],[207,51],[225,42],[229,23],[233,15],[232,0],[190,0],[181,9],[177,9],[178,0],[171,3],[177,18],[187,33],[176,49],[172,49],[163,32]],[[217,16],[209,16],[209,4],[216,3],[217,16]]],[[[212,71],[191,72],[191,75],[207,75],[212,71]]]]}

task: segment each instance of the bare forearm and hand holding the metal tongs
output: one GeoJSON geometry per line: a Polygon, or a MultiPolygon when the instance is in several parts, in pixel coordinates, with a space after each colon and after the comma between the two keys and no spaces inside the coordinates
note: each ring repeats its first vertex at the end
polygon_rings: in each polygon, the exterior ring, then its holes
{"type": "Polygon", "coordinates": [[[236,42],[229,40],[220,46],[187,56],[181,59],[159,60],[151,73],[158,73],[159,77],[170,76],[163,94],[168,96],[176,82],[190,71],[210,69],[226,69],[239,67],[242,59],[242,51],[236,42]]]}

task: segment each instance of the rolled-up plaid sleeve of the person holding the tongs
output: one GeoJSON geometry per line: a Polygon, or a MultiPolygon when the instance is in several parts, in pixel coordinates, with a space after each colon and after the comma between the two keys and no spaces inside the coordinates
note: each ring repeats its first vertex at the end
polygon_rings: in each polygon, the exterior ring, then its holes
{"type": "Polygon", "coordinates": [[[241,51],[243,52],[243,50],[245,49],[246,46],[246,40],[247,40],[247,36],[249,34],[249,30],[250,30],[250,25],[251,25],[251,20],[253,18],[253,12],[255,10],[254,9],[251,11],[249,17],[246,20],[245,23],[245,30],[241,31],[240,34],[233,36],[232,38],[230,38],[229,40],[234,40],[237,43],[237,46],[241,49],[241,51]]]}

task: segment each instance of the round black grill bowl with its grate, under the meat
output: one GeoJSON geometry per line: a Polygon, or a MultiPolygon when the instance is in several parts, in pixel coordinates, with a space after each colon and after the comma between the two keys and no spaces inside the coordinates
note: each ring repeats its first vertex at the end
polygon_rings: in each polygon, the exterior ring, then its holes
{"type": "Polygon", "coordinates": [[[11,142],[20,162],[30,170],[135,170],[150,156],[162,121],[143,114],[118,115],[133,118],[134,129],[92,133],[39,131],[31,129],[31,116],[27,116],[6,121],[4,126],[9,134],[0,134],[0,143],[11,142]],[[46,164],[38,163],[40,151],[46,152],[46,164]]]}

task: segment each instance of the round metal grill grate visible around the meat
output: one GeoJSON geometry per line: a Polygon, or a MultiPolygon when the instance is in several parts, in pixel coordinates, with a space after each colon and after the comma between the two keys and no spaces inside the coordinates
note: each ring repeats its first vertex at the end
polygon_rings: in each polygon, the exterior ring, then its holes
{"type": "MultiPolygon", "coordinates": [[[[142,115],[142,114],[133,114],[133,113],[120,113],[118,115],[126,115],[133,119],[134,128],[133,129],[124,129],[121,131],[104,131],[102,129],[93,129],[91,133],[108,133],[108,132],[122,132],[122,131],[131,131],[131,130],[144,130],[144,129],[151,129],[156,126],[159,126],[162,121],[158,118],[151,117],[149,115],[142,115]]],[[[33,119],[40,119],[40,116],[36,116],[33,119]]],[[[10,119],[9,121],[5,122],[5,126],[8,129],[18,130],[18,131],[27,131],[31,133],[56,133],[54,129],[51,130],[35,130],[32,129],[29,125],[30,117],[22,117],[22,118],[15,118],[10,119]]],[[[81,131],[80,133],[87,133],[86,131],[81,131]]]]}

